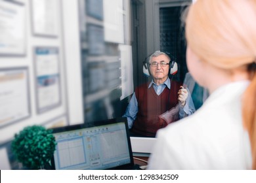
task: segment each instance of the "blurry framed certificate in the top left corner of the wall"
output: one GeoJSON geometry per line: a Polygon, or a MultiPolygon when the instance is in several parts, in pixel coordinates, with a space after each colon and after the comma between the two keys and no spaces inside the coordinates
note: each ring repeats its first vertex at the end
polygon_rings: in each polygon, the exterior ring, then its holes
{"type": "Polygon", "coordinates": [[[0,56],[25,56],[25,8],[16,1],[0,1],[0,56]]]}

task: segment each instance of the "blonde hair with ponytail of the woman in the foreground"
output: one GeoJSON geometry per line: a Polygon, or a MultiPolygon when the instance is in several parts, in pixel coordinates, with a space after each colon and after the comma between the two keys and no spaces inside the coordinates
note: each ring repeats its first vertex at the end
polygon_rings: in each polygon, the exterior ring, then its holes
{"type": "Polygon", "coordinates": [[[221,69],[247,68],[243,120],[256,169],[256,0],[198,0],[186,16],[186,40],[202,61],[221,69]]]}

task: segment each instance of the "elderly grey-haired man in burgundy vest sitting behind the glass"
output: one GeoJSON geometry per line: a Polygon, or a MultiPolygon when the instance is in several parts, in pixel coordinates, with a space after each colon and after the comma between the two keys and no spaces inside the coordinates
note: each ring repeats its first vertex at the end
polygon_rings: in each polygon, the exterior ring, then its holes
{"type": "Polygon", "coordinates": [[[171,59],[164,52],[156,51],[149,58],[148,67],[152,81],[135,89],[123,117],[127,117],[129,129],[135,135],[154,137],[158,129],[169,122],[160,118],[171,108],[178,108],[178,119],[194,112],[186,99],[188,91],[179,82],[171,81],[168,73],[171,59]],[[178,105],[179,104],[179,105],[178,105]]]}

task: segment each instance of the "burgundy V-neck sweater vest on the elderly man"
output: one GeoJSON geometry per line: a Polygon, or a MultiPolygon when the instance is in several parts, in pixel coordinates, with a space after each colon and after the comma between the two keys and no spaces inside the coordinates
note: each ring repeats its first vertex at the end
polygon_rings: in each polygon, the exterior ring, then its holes
{"type": "Polygon", "coordinates": [[[178,91],[181,83],[172,81],[171,90],[165,87],[160,95],[156,94],[153,86],[148,88],[148,85],[149,83],[142,84],[135,89],[139,110],[131,130],[138,135],[154,137],[158,129],[167,125],[158,116],[175,107],[179,102],[178,91]]]}

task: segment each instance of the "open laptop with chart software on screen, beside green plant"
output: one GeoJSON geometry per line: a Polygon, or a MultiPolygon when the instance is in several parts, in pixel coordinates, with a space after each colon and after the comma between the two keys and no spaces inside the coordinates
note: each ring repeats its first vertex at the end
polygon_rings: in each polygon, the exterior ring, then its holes
{"type": "Polygon", "coordinates": [[[52,129],[56,170],[139,169],[134,165],[127,118],[52,129]]]}

